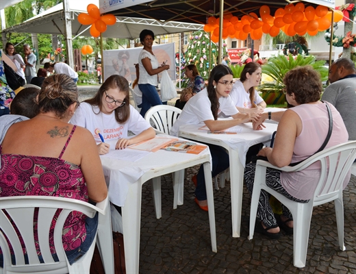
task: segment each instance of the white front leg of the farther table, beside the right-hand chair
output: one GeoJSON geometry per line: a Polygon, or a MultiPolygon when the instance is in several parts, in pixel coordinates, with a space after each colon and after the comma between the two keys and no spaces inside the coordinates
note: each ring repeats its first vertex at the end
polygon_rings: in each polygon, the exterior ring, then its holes
{"type": "Polygon", "coordinates": [[[244,166],[238,158],[238,151],[229,149],[230,182],[231,182],[231,221],[232,236],[240,237],[242,191],[244,186],[244,166]]]}

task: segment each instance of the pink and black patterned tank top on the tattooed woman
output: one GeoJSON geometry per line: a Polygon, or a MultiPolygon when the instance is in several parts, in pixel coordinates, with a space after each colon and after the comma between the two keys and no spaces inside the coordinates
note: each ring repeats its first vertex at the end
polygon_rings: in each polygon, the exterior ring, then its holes
{"type": "MultiPolygon", "coordinates": [[[[58,158],[2,154],[2,146],[0,145],[0,197],[38,195],[88,201],[88,188],[80,166],[62,160],[62,155],[73,136],[75,128],[76,125],[73,126],[58,158]]],[[[58,214],[55,214],[55,219],[58,218],[58,214]]],[[[34,223],[36,223],[37,214],[34,214],[34,216],[34,223]]],[[[62,235],[65,251],[76,249],[86,239],[85,219],[86,215],[81,212],[73,211],[68,215],[62,235]]],[[[51,226],[51,231],[55,227],[54,224],[51,226]]],[[[38,242],[36,230],[34,237],[38,242]]],[[[55,253],[52,233],[49,235],[49,242],[51,253],[55,253]]],[[[21,245],[23,245],[22,239],[21,245]]],[[[40,254],[38,245],[36,249],[40,254]]],[[[23,251],[26,253],[24,245],[23,251]]]]}

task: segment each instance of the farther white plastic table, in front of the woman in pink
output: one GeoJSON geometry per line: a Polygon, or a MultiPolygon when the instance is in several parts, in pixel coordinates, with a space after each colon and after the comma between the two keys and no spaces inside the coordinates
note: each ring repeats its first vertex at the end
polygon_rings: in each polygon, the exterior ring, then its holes
{"type": "Polygon", "coordinates": [[[181,125],[179,127],[179,136],[198,142],[218,145],[229,152],[232,236],[237,238],[240,237],[246,152],[249,147],[259,142],[268,142],[272,133],[277,130],[277,124],[265,123],[266,128],[262,130],[253,130],[251,123],[242,124],[240,125],[242,132],[238,132],[238,134],[207,134],[206,130],[199,129],[203,125],[181,125]]]}

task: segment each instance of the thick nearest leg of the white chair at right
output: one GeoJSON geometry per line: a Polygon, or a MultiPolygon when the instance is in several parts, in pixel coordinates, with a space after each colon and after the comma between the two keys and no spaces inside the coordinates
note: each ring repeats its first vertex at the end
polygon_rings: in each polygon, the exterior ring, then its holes
{"type": "Polygon", "coordinates": [[[310,222],[312,221],[313,205],[296,203],[293,214],[293,253],[294,266],[303,268],[307,260],[310,222]]]}

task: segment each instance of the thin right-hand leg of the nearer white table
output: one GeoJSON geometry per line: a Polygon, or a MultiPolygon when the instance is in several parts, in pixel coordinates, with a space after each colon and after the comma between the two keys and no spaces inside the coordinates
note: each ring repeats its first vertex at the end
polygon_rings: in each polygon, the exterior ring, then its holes
{"type": "Polygon", "coordinates": [[[210,168],[210,162],[203,163],[205,188],[207,191],[207,208],[209,208],[209,227],[210,238],[212,240],[212,251],[218,252],[216,247],[216,227],[215,227],[215,210],[214,210],[214,195],[212,184],[212,169],[210,168]]]}

